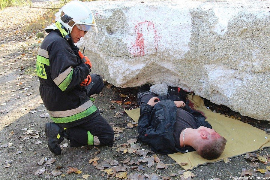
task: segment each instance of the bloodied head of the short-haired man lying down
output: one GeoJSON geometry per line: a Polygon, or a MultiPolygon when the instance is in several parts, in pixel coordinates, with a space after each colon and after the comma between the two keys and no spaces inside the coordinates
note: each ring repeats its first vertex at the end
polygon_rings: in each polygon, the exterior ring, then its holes
{"type": "Polygon", "coordinates": [[[227,140],[215,130],[200,126],[197,129],[200,138],[197,140],[196,151],[205,159],[212,160],[220,157],[225,149],[227,140]]]}

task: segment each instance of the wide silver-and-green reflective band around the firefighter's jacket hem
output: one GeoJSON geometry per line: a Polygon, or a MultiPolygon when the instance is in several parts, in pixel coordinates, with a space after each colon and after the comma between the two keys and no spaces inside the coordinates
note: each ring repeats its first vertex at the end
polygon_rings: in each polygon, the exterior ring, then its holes
{"type": "Polygon", "coordinates": [[[83,105],[79,106],[76,109],[71,109],[67,111],[48,111],[48,113],[52,121],[55,123],[69,123],[87,117],[90,114],[94,113],[96,110],[98,109],[89,99],[89,101],[85,102],[83,105]]]}

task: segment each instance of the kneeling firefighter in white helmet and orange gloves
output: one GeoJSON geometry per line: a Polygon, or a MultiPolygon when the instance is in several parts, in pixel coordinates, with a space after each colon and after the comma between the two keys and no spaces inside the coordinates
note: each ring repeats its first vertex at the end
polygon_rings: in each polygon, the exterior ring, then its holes
{"type": "Polygon", "coordinates": [[[113,129],[90,99],[101,92],[103,80],[89,75],[90,60],[73,44],[88,31],[98,32],[93,13],[81,1],[67,3],[60,12],[55,24],[45,28],[49,34],[37,56],[40,95],[53,121],[45,124],[48,147],[61,154],[64,138],[71,147],[113,145],[113,129]]]}

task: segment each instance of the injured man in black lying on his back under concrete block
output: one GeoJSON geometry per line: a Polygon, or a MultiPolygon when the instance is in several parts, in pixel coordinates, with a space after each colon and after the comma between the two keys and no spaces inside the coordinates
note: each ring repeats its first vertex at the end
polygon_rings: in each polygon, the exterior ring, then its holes
{"type": "Polygon", "coordinates": [[[208,160],[222,154],[227,140],[211,129],[200,112],[188,106],[184,90],[169,87],[167,96],[157,96],[149,90],[149,85],[144,85],[137,95],[138,133],[142,142],[161,154],[197,151],[208,160]]]}

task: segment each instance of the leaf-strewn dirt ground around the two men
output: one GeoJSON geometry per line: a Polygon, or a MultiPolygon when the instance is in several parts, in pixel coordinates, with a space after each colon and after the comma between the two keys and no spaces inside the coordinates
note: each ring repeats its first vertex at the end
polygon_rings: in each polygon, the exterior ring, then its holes
{"type": "MultiPolygon", "coordinates": [[[[64,140],[62,154],[55,156],[47,147],[44,124],[50,122],[46,117],[46,109],[39,95],[39,81],[35,75],[35,60],[38,45],[43,38],[35,37],[34,32],[23,33],[22,28],[45,13],[44,9],[26,7],[5,8],[0,11],[0,177],[1,179],[183,179],[182,167],[167,155],[149,152],[148,156],[158,157],[167,169],[157,169],[147,166],[146,162],[128,165],[125,163],[144,157],[137,153],[117,151],[120,145],[135,145],[139,150],[151,149],[146,144],[134,140],[137,137],[136,124],[124,112],[125,109],[137,108],[137,88],[104,87],[96,98],[95,105],[102,116],[115,128],[116,140],[112,147],[85,146],[71,148],[68,140],[64,140]],[[116,101],[116,102],[115,102],[116,101]],[[119,102],[121,101],[121,103],[119,102]],[[43,117],[41,117],[43,116],[43,117]],[[131,127],[134,126],[134,127],[131,127]],[[132,139],[132,140],[131,140],[132,139]],[[127,141],[131,141],[127,143],[127,141]],[[51,159],[55,158],[55,159],[51,159]],[[43,159],[43,160],[42,160],[43,159]],[[110,159],[110,160],[108,160],[110,159]],[[89,160],[93,161],[91,164],[89,160]],[[107,172],[95,168],[93,163],[107,163],[107,172]],[[44,162],[40,162],[44,161],[44,162]],[[51,161],[51,162],[49,162],[51,161]],[[41,165],[38,165],[40,163],[41,165]],[[110,164],[111,165],[110,165],[110,164]],[[119,164],[118,164],[119,163],[119,164]],[[122,174],[108,171],[109,166],[125,165],[122,174]],[[39,170],[38,169],[42,169],[39,170]],[[72,169],[77,168],[77,169],[72,169]],[[56,170],[56,171],[54,171],[56,170]],[[68,173],[70,170],[72,173],[68,173]],[[76,171],[76,172],[73,172],[76,171]],[[57,175],[57,173],[61,173],[57,175]],[[109,175],[111,173],[111,175],[109,175]],[[126,174],[125,174],[126,173],[126,174]],[[176,173],[176,176],[170,176],[176,173]],[[39,175],[35,175],[39,174],[39,175]],[[140,175],[139,175],[140,174],[140,175]],[[57,176],[54,176],[57,175],[57,176]],[[121,176],[122,175],[122,176],[121,176]]],[[[45,31],[43,31],[45,33],[45,31]]],[[[205,99],[205,105],[211,110],[241,118],[262,130],[269,129],[268,121],[258,121],[249,117],[242,117],[239,113],[221,105],[215,105],[205,99]]],[[[267,155],[269,148],[256,153],[267,155]]],[[[258,177],[265,174],[253,169],[266,169],[269,163],[260,163],[258,167],[251,167],[250,160],[239,156],[231,158],[228,163],[223,161],[199,166],[191,172],[196,175],[192,179],[233,179],[239,177],[242,168],[251,169],[250,175],[256,173],[258,177]]],[[[268,160],[269,162],[269,160],[268,160]]],[[[96,166],[97,167],[97,166],[96,166]]],[[[105,169],[105,171],[106,171],[105,169]]],[[[248,173],[247,173],[248,175],[248,173]]],[[[247,175],[244,175],[245,177],[247,175]]],[[[255,174],[253,174],[255,175],[255,174]]]]}

